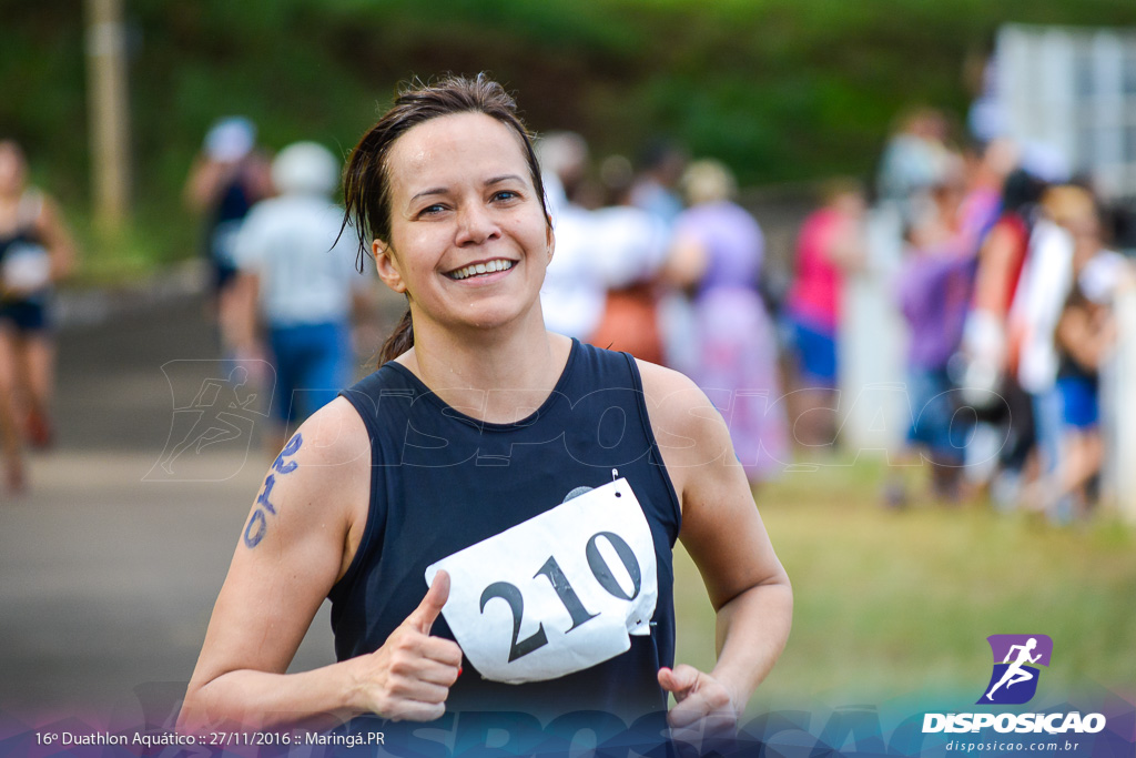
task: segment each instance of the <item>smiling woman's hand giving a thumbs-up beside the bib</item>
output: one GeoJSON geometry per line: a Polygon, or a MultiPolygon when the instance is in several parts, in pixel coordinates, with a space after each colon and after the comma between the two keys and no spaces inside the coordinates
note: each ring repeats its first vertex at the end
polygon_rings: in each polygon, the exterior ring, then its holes
{"type": "Polygon", "coordinates": [[[431,636],[429,630],[449,597],[450,575],[438,572],[421,603],[383,647],[354,659],[361,710],[412,722],[433,720],[445,713],[445,699],[461,673],[461,648],[452,640],[431,636]]]}

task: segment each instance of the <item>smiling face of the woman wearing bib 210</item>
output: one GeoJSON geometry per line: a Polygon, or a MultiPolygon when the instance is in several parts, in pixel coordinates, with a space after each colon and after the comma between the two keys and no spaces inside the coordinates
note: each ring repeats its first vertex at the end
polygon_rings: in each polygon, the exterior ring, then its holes
{"type": "Polygon", "coordinates": [[[484,114],[419,124],[387,156],[391,239],[379,276],[407,292],[416,332],[492,328],[535,313],[552,231],[519,136],[484,114]]]}

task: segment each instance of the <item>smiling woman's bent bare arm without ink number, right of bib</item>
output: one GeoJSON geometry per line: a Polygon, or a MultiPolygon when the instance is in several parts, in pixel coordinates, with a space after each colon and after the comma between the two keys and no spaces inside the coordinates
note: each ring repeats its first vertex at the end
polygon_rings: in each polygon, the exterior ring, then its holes
{"type": "Polygon", "coordinates": [[[683,507],[679,539],[717,613],[718,661],[660,673],[678,705],[670,719],[736,716],[785,647],[792,623],[788,576],[766,533],[729,430],[685,376],[640,364],[651,423],[683,507]]]}

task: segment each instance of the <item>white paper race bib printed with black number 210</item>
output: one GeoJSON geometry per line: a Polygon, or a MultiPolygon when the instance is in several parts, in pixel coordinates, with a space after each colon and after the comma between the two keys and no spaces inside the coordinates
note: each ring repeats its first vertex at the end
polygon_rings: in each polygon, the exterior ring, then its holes
{"type": "Polygon", "coordinates": [[[659,582],[651,528],[619,478],[426,569],[451,577],[442,609],[485,678],[550,680],[615,658],[651,633],[659,582]]]}

